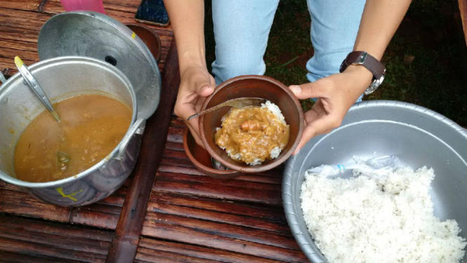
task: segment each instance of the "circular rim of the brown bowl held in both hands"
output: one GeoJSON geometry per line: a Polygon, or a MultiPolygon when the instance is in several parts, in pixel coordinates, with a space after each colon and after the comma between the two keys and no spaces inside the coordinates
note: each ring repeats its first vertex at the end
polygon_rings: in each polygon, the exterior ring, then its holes
{"type": "MultiPolygon", "coordinates": [[[[234,82],[238,82],[238,81],[241,81],[241,80],[244,80],[244,79],[260,79],[260,80],[263,80],[263,81],[266,81],[266,82],[270,82],[271,84],[273,84],[273,85],[279,87],[280,89],[282,89],[283,91],[285,91],[286,94],[289,95],[289,98],[291,98],[291,101],[294,102],[296,108],[298,108],[298,119],[302,120],[302,121],[298,123],[298,134],[297,134],[297,137],[296,137],[294,143],[292,144],[290,150],[287,153],[285,153],[284,155],[279,156],[279,158],[272,160],[267,165],[261,164],[261,165],[254,165],[254,166],[251,166],[251,167],[243,167],[243,166],[240,166],[240,165],[232,165],[232,163],[223,160],[223,158],[221,158],[221,156],[218,155],[216,153],[216,151],[214,151],[211,147],[209,147],[209,143],[208,143],[208,140],[206,138],[206,134],[204,132],[202,132],[202,131],[204,131],[204,124],[203,124],[204,115],[201,115],[199,117],[200,137],[201,137],[201,140],[202,140],[206,150],[209,152],[209,154],[213,158],[215,158],[216,160],[221,162],[223,165],[225,165],[226,167],[229,167],[230,169],[235,169],[235,170],[237,170],[239,172],[244,172],[244,173],[264,172],[264,171],[268,171],[268,170],[270,170],[272,168],[275,168],[275,167],[281,165],[283,162],[285,162],[285,161],[287,161],[287,159],[289,159],[289,157],[292,155],[292,153],[294,153],[294,150],[297,148],[298,143],[300,143],[301,136],[303,134],[303,127],[304,127],[303,110],[301,108],[300,102],[298,101],[298,98],[296,98],[296,96],[294,95],[294,93],[292,93],[292,91],[289,89],[288,86],[285,86],[284,84],[282,84],[282,82],[279,82],[277,79],[273,79],[272,77],[267,77],[267,76],[263,76],[263,75],[242,75],[242,76],[233,77],[231,79],[226,80],[225,82],[219,84],[216,87],[216,89],[214,90],[213,94],[211,94],[211,96],[209,96],[208,98],[206,98],[206,100],[204,100],[204,103],[202,105],[201,110],[206,109],[206,105],[208,105],[209,101],[211,101],[211,98],[213,98],[213,96],[216,96],[216,94],[218,94],[218,91],[223,89],[225,86],[228,86],[228,85],[230,85],[230,84],[232,84],[234,82]]],[[[290,141],[289,141],[289,143],[290,143],[290,141]]]]}

